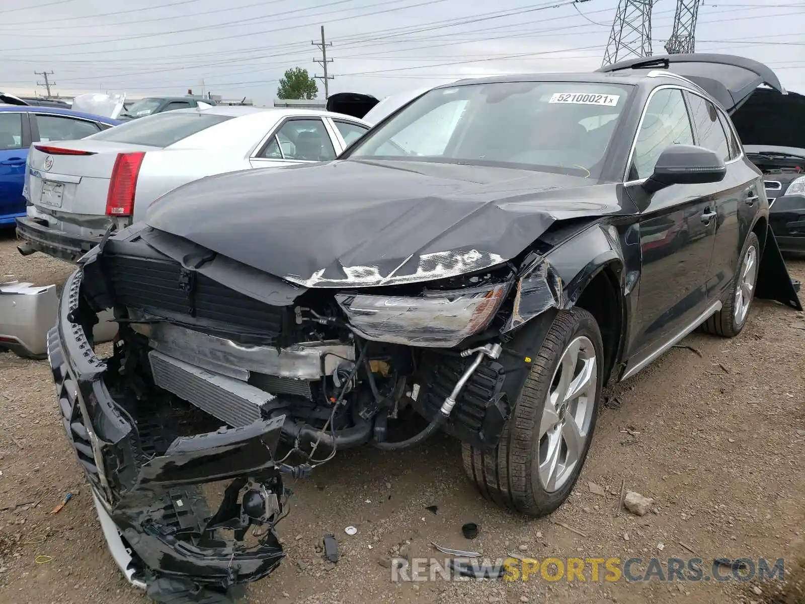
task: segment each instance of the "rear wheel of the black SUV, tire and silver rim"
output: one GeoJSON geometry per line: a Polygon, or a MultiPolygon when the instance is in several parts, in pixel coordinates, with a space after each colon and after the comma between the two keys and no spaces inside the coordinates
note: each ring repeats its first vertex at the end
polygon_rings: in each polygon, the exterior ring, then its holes
{"type": "Polygon", "coordinates": [[[738,256],[735,283],[729,290],[725,300],[721,300],[720,311],[714,313],[701,325],[704,333],[715,336],[735,337],[744,329],[749,311],[754,300],[755,286],[758,283],[758,268],[760,267],[760,242],[758,235],[749,233],[746,238],[741,255],[738,256]],[[753,266],[748,267],[750,257],[753,266]],[[749,286],[749,296],[746,296],[749,286]],[[748,297],[748,300],[747,300],[748,297]]]}

